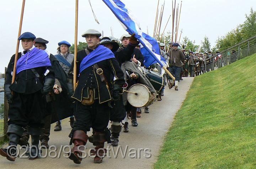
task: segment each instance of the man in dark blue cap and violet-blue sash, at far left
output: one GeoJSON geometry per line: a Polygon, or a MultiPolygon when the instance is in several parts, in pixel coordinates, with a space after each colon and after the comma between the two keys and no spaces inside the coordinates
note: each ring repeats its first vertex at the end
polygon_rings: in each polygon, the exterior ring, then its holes
{"type": "Polygon", "coordinates": [[[54,84],[54,71],[49,56],[45,51],[34,47],[35,38],[30,32],[25,32],[18,38],[23,51],[18,53],[14,83],[12,76],[15,54],[11,57],[5,74],[4,89],[9,103],[9,146],[0,148],[0,155],[10,161],[15,161],[16,146],[25,127],[31,135],[29,159],[39,157],[39,136],[42,134],[42,120],[45,116],[44,95],[52,91],[54,84]]]}

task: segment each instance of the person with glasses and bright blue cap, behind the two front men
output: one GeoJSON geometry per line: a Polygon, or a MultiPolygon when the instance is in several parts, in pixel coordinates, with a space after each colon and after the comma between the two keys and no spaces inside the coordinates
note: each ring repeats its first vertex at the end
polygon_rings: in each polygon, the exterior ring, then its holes
{"type": "MultiPolygon", "coordinates": [[[[62,66],[63,70],[68,75],[71,63],[74,61],[74,54],[71,54],[69,47],[71,46],[69,42],[67,41],[60,41],[58,43],[59,47],[57,48],[58,54],[55,55],[55,57],[59,60],[60,65],[62,66]]],[[[69,96],[73,95],[74,89],[73,89],[73,83],[71,80],[68,79],[68,93],[69,96]]],[[[74,116],[70,116],[70,126],[74,127],[75,118],[74,116]]],[[[56,123],[56,126],[54,127],[54,131],[60,131],[62,130],[61,127],[61,121],[58,121],[56,123]]]]}

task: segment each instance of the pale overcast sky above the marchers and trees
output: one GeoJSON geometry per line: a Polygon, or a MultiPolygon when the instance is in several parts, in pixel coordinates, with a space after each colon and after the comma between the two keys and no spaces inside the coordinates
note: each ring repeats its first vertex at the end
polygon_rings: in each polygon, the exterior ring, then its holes
{"type": "MultiPolygon", "coordinates": [[[[149,35],[152,36],[158,0],[121,1],[137,17],[142,31],[146,33],[148,26],[149,35]]],[[[159,8],[163,3],[164,0],[160,0],[159,8]]],[[[181,4],[181,1],[176,0],[176,4],[181,4]]],[[[100,24],[95,22],[88,0],[79,0],[78,41],[85,42],[81,34],[87,29],[103,31],[104,36],[111,36],[112,27],[113,35],[118,39],[126,33],[102,0],[91,0],[91,5],[100,24]]],[[[4,72],[4,67],[7,67],[16,50],[21,6],[22,0],[0,2],[0,72],[4,72]]],[[[245,21],[245,14],[249,14],[251,7],[256,10],[256,0],[182,0],[178,34],[182,29],[181,39],[187,36],[191,41],[195,40],[196,45],[200,45],[203,37],[208,36],[213,47],[218,36],[225,35],[245,21]]],[[[172,1],[166,0],[160,32],[171,13],[172,1]]],[[[171,27],[170,19],[165,31],[171,30],[171,27]]],[[[21,33],[26,31],[48,40],[47,50],[53,54],[57,52],[58,42],[66,40],[73,44],[75,0],[26,0],[21,33]]]]}

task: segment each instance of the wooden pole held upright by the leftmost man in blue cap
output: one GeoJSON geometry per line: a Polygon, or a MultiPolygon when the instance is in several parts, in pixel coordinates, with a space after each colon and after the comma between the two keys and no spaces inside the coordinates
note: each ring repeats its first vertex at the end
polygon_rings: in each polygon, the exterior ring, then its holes
{"type": "MultiPolygon", "coordinates": [[[[25,8],[25,0],[22,1],[21,17],[20,17],[20,26],[19,26],[19,30],[18,30],[18,37],[20,37],[20,35],[21,35],[21,28],[22,28],[24,8],[25,8]]],[[[13,70],[13,74],[12,74],[12,83],[14,83],[14,81],[15,81],[16,65],[17,65],[17,60],[18,60],[18,48],[19,48],[19,46],[20,46],[20,40],[17,40],[16,53],[15,53],[15,59],[14,59],[14,70],[13,70]]]]}

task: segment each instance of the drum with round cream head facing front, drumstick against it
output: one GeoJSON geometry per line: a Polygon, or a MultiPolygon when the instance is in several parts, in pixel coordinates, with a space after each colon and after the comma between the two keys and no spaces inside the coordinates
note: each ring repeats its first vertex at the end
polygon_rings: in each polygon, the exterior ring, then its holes
{"type": "Polygon", "coordinates": [[[134,84],[127,92],[127,100],[134,107],[149,106],[155,101],[155,98],[156,94],[150,93],[144,84],[134,84]]]}

